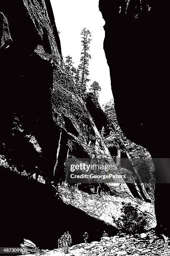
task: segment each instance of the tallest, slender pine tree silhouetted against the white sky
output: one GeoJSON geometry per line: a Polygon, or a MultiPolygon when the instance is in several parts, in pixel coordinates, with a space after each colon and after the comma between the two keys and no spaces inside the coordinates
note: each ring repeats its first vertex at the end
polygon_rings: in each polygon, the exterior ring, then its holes
{"type": "Polygon", "coordinates": [[[89,44],[90,44],[90,36],[91,33],[88,29],[83,28],[81,31],[82,35],[82,52],[81,52],[81,58],[80,58],[80,65],[78,69],[80,70],[80,84],[79,84],[79,90],[80,94],[82,96],[85,95],[86,92],[86,84],[89,81],[87,79],[87,76],[89,75],[88,71],[88,65],[89,65],[89,59],[91,59],[91,56],[89,54],[89,44]]]}

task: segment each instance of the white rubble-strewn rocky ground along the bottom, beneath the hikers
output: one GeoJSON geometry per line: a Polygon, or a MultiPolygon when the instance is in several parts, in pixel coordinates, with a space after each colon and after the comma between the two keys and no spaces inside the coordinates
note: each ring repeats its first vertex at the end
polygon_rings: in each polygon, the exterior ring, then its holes
{"type": "MultiPolygon", "coordinates": [[[[35,254],[34,254],[35,255],[35,254]]],[[[45,256],[64,256],[61,249],[44,252],[45,256]]],[[[67,256],[170,256],[170,248],[154,231],[136,235],[102,237],[100,242],[72,246],[67,256]]]]}

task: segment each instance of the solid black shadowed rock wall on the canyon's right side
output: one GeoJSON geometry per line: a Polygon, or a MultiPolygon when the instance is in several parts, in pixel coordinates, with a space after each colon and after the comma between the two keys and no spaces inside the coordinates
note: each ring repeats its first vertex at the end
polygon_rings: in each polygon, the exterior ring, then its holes
{"type": "MultiPolygon", "coordinates": [[[[128,139],[147,148],[153,158],[170,157],[169,5],[152,0],[107,4],[100,0],[99,8],[106,22],[104,49],[120,128],[128,139]]],[[[155,168],[159,169],[157,165],[155,168]]],[[[168,165],[164,162],[159,171],[167,175],[168,165]]],[[[162,180],[158,174],[157,179],[162,180]]],[[[169,184],[156,184],[158,226],[163,225],[170,233],[165,199],[169,191],[169,184]]]]}

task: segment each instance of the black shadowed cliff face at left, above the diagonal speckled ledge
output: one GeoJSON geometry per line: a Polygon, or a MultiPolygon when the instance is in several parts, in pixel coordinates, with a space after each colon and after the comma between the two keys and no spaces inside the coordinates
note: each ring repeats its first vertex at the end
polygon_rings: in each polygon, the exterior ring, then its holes
{"type": "Polygon", "coordinates": [[[51,63],[34,51],[37,45],[45,44],[45,39],[38,33],[23,1],[11,3],[10,8],[9,3],[1,2],[0,10],[6,17],[13,40],[10,47],[3,47],[0,59],[3,153],[18,169],[22,166],[35,169],[35,165],[43,166],[47,161],[52,166],[49,168],[45,164],[46,168],[53,169],[55,151],[52,148],[56,148],[50,92],[53,69],[51,63]],[[23,133],[18,125],[22,126],[23,133]],[[41,159],[29,145],[26,134],[35,136],[42,148],[41,159]]]}

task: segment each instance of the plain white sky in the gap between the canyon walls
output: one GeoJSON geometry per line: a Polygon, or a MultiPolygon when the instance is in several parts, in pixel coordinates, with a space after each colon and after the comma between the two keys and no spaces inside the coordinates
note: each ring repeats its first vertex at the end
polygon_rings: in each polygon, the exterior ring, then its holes
{"type": "Polygon", "coordinates": [[[102,14],[99,11],[99,0],[50,0],[57,30],[60,32],[62,56],[70,55],[77,68],[80,64],[81,30],[91,32],[89,79],[88,85],[97,81],[102,90],[99,93],[100,105],[112,98],[110,71],[107,65],[103,41],[105,38],[102,14]]]}

